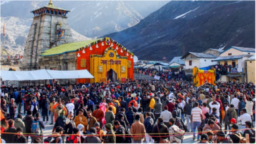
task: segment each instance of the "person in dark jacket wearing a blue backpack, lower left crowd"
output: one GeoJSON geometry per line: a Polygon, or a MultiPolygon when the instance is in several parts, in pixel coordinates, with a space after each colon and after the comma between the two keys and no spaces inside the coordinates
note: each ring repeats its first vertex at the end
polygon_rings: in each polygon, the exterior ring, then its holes
{"type": "MultiPolygon", "coordinates": [[[[35,113],[35,118],[32,121],[32,141],[35,139],[35,136],[43,135],[43,129],[45,129],[45,124],[43,123],[43,120],[40,120],[40,114],[35,113]]],[[[41,141],[43,141],[43,137],[39,137],[41,141]]]]}

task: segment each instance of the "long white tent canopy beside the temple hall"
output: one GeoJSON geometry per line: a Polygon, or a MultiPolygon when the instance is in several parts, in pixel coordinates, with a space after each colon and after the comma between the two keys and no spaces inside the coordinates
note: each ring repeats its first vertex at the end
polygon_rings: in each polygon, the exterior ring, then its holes
{"type": "Polygon", "coordinates": [[[27,81],[46,79],[85,79],[94,78],[87,69],[74,71],[55,71],[40,69],[35,71],[1,71],[3,81],[27,81]]]}

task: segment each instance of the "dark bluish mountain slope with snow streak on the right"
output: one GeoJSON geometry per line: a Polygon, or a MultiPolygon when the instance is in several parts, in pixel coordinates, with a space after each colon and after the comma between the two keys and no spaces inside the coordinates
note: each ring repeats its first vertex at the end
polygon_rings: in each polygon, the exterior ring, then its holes
{"type": "Polygon", "coordinates": [[[140,60],[208,48],[255,48],[255,1],[170,1],[136,26],[105,35],[140,60]]]}

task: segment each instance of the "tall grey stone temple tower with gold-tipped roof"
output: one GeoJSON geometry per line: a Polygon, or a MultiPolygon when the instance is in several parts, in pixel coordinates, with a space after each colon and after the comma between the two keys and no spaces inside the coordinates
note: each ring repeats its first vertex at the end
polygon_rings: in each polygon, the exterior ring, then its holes
{"type": "Polygon", "coordinates": [[[23,71],[41,69],[39,55],[42,52],[73,42],[67,20],[68,12],[70,10],[54,7],[52,1],[49,5],[32,11],[34,17],[24,48],[23,71]]]}

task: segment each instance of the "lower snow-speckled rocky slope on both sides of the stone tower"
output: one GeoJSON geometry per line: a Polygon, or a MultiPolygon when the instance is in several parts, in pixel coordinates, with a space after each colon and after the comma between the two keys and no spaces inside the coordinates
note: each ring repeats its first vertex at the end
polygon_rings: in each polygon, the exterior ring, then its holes
{"type": "MultiPolygon", "coordinates": [[[[13,16],[1,17],[1,29],[3,29],[3,22],[5,22],[5,48],[3,54],[23,54],[25,41],[30,31],[32,18],[17,18],[13,16]]],[[[71,29],[74,41],[86,41],[91,38],[85,37],[74,29],[71,29]]],[[[3,31],[1,31],[3,35],[3,31]]],[[[3,45],[3,37],[1,36],[3,45]]]]}

